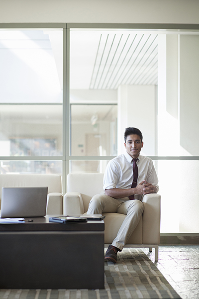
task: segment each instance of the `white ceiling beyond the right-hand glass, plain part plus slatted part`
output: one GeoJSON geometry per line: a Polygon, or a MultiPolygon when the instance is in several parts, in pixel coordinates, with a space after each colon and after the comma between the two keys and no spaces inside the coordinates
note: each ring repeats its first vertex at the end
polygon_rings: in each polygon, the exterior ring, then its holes
{"type": "Polygon", "coordinates": [[[117,89],[119,85],[156,85],[157,34],[72,31],[71,89],[117,89]]]}

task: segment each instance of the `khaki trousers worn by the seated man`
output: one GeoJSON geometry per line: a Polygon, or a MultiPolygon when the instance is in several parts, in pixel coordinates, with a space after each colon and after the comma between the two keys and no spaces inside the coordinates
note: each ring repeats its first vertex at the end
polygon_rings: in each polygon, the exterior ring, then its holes
{"type": "Polygon", "coordinates": [[[112,242],[113,246],[122,250],[139,223],[143,210],[144,205],[140,200],[129,200],[127,197],[115,199],[104,194],[97,194],[91,199],[87,214],[120,213],[126,215],[112,242]]]}

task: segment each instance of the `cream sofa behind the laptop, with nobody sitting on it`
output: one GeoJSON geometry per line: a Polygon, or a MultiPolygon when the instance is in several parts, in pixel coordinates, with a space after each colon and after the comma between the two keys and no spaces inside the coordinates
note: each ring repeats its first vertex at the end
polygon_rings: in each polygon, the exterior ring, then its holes
{"type": "Polygon", "coordinates": [[[63,213],[62,179],[58,174],[0,174],[2,187],[48,186],[47,214],[63,213]]]}

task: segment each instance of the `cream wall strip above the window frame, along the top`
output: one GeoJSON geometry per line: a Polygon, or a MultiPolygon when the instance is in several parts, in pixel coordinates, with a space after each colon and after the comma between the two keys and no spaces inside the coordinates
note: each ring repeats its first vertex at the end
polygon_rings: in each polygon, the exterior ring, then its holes
{"type": "Polygon", "coordinates": [[[0,0],[0,22],[199,23],[199,1],[0,0]]]}

